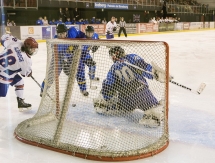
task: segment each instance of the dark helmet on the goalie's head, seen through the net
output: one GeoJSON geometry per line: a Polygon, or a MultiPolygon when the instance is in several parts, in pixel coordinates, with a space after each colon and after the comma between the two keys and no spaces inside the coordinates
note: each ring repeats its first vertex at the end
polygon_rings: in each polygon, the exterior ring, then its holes
{"type": "Polygon", "coordinates": [[[119,61],[122,57],[125,56],[125,50],[120,46],[114,46],[110,48],[109,55],[113,61],[119,61]]]}

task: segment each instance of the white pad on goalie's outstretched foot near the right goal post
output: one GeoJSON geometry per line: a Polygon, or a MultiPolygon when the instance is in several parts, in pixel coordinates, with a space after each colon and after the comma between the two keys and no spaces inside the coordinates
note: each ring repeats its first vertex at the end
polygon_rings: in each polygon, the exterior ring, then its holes
{"type": "Polygon", "coordinates": [[[139,120],[139,123],[150,128],[159,127],[161,121],[164,119],[162,106],[151,108],[144,112],[143,118],[139,120]]]}

